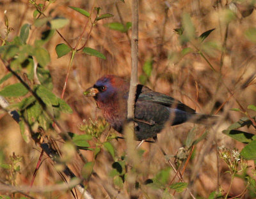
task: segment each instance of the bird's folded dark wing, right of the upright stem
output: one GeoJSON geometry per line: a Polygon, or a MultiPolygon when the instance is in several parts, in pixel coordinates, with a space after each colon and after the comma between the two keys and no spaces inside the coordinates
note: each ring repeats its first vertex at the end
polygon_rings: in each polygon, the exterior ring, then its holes
{"type": "Polygon", "coordinates": [[[184,103],[181,103],[179,100],[174,99],[170,96],[166,96],[165,94],[159,92],[154,92],[143,85],[138,85],[136,92],[136,100],[159,103],[166,107],[183,110],[184,112],[189,112],[191,114],[195,113],[195,110],[184,105],[184,103]]]}

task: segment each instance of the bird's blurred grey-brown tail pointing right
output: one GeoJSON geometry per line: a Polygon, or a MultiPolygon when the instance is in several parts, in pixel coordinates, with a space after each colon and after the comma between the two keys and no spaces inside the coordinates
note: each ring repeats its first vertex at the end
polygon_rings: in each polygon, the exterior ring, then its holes
{"type": "Polygon", "coordinates": [[[193,122],[196,124],[212,125],[220,119],[218,115],[207,115],[207,114],[194,114],[188,122],[193,122]]]}

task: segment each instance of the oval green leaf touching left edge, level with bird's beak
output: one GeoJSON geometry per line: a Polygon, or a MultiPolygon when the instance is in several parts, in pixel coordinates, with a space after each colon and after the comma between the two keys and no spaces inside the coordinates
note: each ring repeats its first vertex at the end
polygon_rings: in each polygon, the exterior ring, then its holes
{"type": "Polygon", "coordinates": [[[21,83],[8,85],[0,91],[0,95],[4,97],[19,97],[24,96],[27,93],[28,89],[26,89],[26,87],[21,83]]]}

